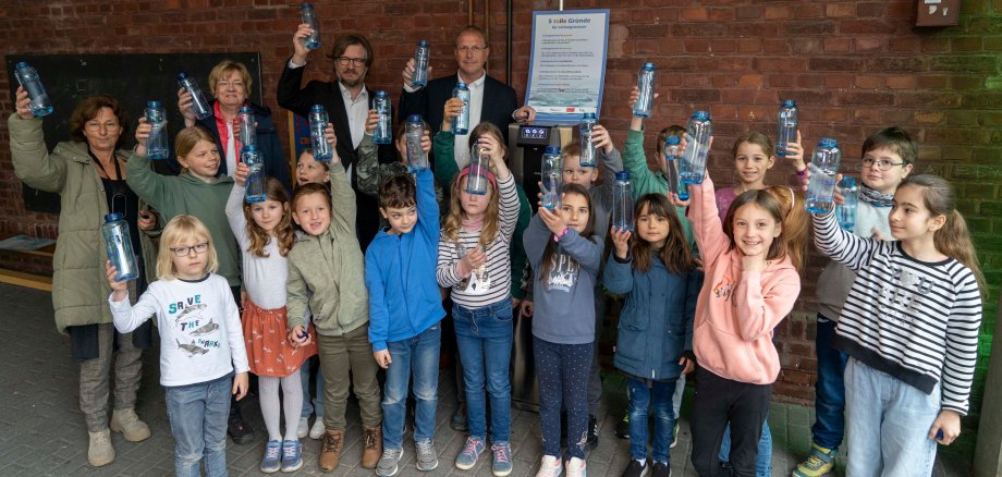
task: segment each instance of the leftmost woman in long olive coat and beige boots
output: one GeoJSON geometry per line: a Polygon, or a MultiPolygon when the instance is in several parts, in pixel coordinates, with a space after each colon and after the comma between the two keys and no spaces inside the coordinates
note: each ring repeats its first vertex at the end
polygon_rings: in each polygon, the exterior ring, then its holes
{"type": "Polygon", "coordinates": [[[14,174],[25,184],[60,195],[59,237],[52,260],[52,307],[56,327],[69,334],[73,359],[80,363],[80,408],[90,442],[87,460],[102,466],[114,461],[111,430],[125,440],[149,437],[149,427],[136,416],[136,391],[142,377],[142,348],[149,347],[149,323],[131,333],[114,329],[105,277],[105,215],[119,212],[130,225],[139,278],[130,282],[138,296],[154,279],[156,250],[139,229],[149,230],[156,216],[125,184],[127,150],[120,150],[123,124],[119,101],[93,96],[70,117],[72,140],[46,148],[41,119],[29,109],[30,99],[17,88],[16,111],[8,120],[14,174]],[[148,266],[149,265],[149,266],[148,266]],[[118,350],[117,356],[115,350],[118,350]],[[114,411],[108,419],[108,397],[114,366],[114,411]]]}

